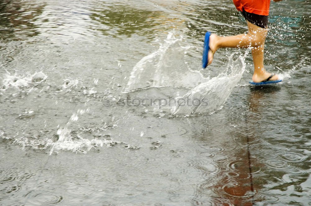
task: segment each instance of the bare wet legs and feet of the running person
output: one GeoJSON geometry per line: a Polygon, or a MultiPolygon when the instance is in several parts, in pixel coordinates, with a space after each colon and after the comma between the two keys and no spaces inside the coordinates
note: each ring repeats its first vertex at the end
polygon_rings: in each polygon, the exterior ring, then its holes
{"type": "MultiPolygon", "coordinates": [[[[264,69],[263,65],[263,50],[265,40],[267,36],[267,29],[262,29],[256,25],[251,24],[247,21],[248,33],[239,34],[236,36],[219,37],[216,34],[212,34],[210,37],[210,49],[208,53],[208,64],[211,64],[214,53],[217,49],[223,47],[232,48],[248,48],[252,47],[252,55],[254,62],[254,74],[253,81],[261,82],[267,79],[271,74],[264,69]]],[[[279,77],[274,75],[271,80],[277,80],[279,77]]]]}

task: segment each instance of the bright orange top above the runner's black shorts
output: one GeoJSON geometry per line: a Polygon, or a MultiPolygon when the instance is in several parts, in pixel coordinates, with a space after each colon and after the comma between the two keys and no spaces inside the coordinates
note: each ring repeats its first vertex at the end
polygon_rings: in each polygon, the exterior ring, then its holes
{"type": "Polygon", "coordinates": [[[233,0],[233,3],[238,11],[269,15],[270,0],[233,0]]]}

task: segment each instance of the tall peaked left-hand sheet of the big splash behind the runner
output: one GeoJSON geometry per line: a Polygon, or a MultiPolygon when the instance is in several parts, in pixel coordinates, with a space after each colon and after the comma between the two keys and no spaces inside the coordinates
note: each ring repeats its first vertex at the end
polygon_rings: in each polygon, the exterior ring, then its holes
{"type": "Polygon", "coordinates": [[[184,61],[184,54],[190,47],[182,47],[172,33],[165,42],[152,54],[143,57],[133,68],[125,92],[145,87],[184,87],[193,88],[203,76],[192,71],[184,61]]]}

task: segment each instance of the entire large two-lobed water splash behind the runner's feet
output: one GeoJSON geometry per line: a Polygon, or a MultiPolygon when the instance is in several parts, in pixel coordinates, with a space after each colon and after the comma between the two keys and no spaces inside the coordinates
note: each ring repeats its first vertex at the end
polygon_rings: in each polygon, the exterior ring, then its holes
{"type": "MultiPolygon", "coordinates": [[[[160,103],[160,111],[168,111],[174,115],[211,113],[221,109],[232,89],[242,78],[246,66],[245,57],[249,51],[246,50],[236,60],[233,60],[233,53],[221,74],[206,78],[201,72],[188,68],[183,56],[189,47],[181,47],[181,40],[182,38],[178,39],[169,34],[156,52],[143,57],[134,66],[125,92],[137,93],[143,88],[158,87],[166,90],[159,93],[167,93],[174,87],[174,92],[167,95],[173,97],[173,104],[160,103]],[[188,92],[180,94],[181,90],[185,89],[188,92]]],[[[154,94],[150,96],[154,97],[154,94]]]]}

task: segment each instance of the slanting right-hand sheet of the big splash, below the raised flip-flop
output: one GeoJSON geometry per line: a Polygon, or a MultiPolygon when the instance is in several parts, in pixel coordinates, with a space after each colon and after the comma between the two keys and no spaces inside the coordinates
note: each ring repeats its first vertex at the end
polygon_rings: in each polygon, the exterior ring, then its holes
{"type": "Polygon", "coordinates": [[[239,58],[233,60],[233,53],[229,57],[225,72],[217,77],[208,79],[206,82],[191,89],[184,96],[179,97],[171,109],[172,114],[212,113],[215,110],[221,109],[235,85],[242,78],[247,54],[248,50],[244,55],[240,55],[239,58]],[[187,100],[188,104],[178,104],[180,99],[187,100]]]}

